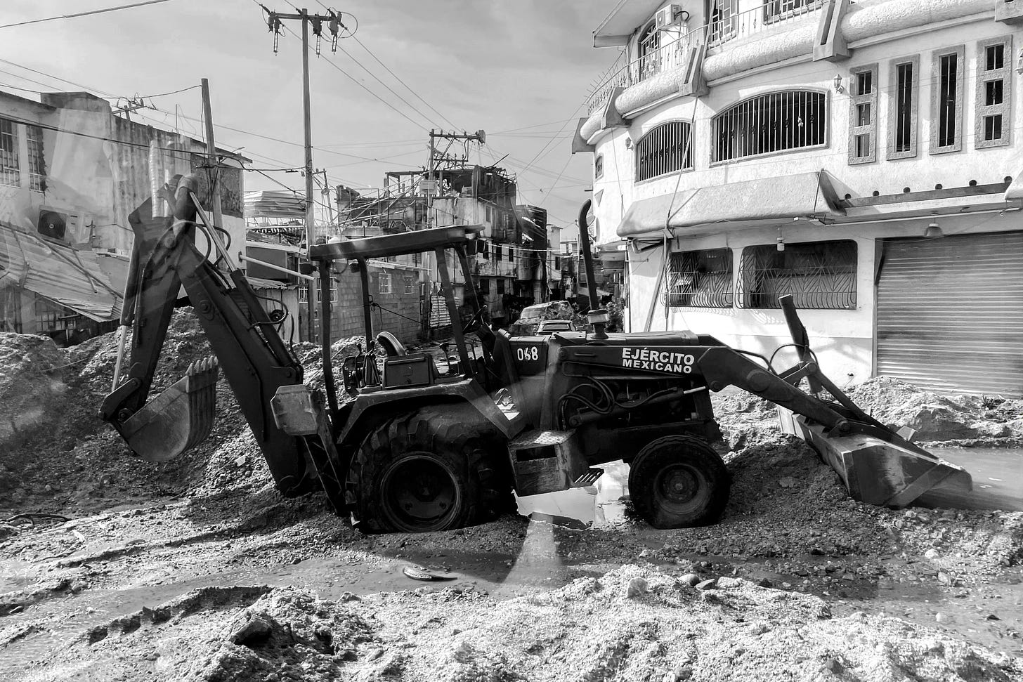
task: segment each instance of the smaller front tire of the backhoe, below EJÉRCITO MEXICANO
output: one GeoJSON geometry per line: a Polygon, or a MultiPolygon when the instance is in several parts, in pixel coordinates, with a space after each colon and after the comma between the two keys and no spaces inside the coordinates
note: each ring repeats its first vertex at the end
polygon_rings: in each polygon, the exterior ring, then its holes
{"type": "Polygon", "coordinates": [[[729,488],[721,457],[692,436],[659,438],[629,465],[632,506],[656,529],[715,522],[728,503],[729,488]]]}

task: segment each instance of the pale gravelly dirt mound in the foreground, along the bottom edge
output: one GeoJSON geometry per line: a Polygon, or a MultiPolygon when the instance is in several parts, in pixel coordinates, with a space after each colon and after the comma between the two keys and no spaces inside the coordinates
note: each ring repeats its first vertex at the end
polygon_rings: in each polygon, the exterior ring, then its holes
{"type": "Polygon", "coordinates": [[[105,629],[119,636],[60,651],[37,679],[104,670],[210,682],[1023,679],[1018,660],[897,619],[832,618],[810,595],[728,577],[694,587],[635,565],[506,601],[472,588],[342,601],[284,588],[240,600],[144,609],[138,623],[105,629]],[[177,616],[155,618],[164,612],[177,616]]]}

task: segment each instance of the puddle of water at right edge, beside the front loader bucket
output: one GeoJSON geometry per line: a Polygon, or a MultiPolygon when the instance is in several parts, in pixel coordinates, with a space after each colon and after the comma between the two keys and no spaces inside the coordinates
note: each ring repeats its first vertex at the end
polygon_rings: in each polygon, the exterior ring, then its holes
{"type": "Polygon", "coordinates": [[[957,509],[1023,511],[1023,449],[935,448],[932,452],[973,476],[973,490],[960,493],[935,488],[918,504],[957,509]]]}

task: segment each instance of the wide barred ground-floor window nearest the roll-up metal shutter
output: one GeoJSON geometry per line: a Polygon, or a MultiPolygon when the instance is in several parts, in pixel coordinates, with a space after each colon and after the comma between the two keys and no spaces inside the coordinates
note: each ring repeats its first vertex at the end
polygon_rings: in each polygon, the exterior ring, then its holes
{"type": "Polygon", "coordinates": [[[810,241],[747,246],[739,265],[740,308],[781,308],[791,293],[796,308],[856,308],[856,242],[810,241]]]}

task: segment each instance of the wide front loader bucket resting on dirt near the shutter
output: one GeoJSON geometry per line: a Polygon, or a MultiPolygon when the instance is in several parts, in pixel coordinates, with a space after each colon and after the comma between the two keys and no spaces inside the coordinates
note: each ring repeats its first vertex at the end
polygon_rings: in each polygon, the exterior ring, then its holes
{"type": "Polygon", "coordinates": [[[905,447],[875,436],[833,436],[805,417],[780,409],[783,428],[806,441],[842,479],[852,499],[888,507],[904,507],[924,493],[940,488],[960,493],[973,488],[964,468],[923,448],[905,447]]]}

